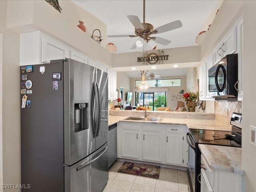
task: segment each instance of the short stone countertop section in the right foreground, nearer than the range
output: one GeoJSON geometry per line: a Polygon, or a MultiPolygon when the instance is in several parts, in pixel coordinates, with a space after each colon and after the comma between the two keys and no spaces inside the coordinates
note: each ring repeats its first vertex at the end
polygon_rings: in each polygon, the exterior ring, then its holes
{"type": "Polygon", "coordinates": [[[199,144],[200,151],[212,170],[244,174],[242,148],[199,144]]]}

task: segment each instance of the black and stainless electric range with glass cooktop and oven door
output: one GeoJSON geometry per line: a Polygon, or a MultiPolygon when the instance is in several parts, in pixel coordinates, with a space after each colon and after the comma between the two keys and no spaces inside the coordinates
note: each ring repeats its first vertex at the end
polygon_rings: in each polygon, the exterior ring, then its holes
{"type": "Polygon", "coordinates": [[[231,131],[189,129],[186,139],[188,150],[188,178],[191,192],[200,192],[201,152],[198,144],[242,147],[242,114],[233,113],[230,119],[231,131]]]}

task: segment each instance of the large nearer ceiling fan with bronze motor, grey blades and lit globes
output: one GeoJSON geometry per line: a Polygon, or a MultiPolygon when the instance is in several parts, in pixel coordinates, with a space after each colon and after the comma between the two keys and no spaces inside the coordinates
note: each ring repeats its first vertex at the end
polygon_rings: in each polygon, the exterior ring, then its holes
{"type": "Polygon", "coordinates": [[[170,40],[161,37],[151,37],[150,35],[164,33],[182,27],[180,20],[176,20],[154,29],[152,24],[145,22],[145,0],[143,0],[143,23],[138,16],[128,15],[127,17],[135,27],[135,35],[108,35],[108,37],[139,37],[132,45],[131,49],[135,49],[136,47],[142,48],[144,42],[147,42],[147,46],[149,46],[150,49],[153,49],[156,46],[156,43],[168,45],[171,42],[170,40]]]}

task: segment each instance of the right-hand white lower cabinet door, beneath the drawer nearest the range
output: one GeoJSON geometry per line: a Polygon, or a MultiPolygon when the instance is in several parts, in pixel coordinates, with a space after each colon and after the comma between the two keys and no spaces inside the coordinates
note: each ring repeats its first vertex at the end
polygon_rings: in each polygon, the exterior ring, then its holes
{"type": "Polygon", "coordinates": [[[183,165],[183,134],[166,134],[166,164],[183,165]]]}

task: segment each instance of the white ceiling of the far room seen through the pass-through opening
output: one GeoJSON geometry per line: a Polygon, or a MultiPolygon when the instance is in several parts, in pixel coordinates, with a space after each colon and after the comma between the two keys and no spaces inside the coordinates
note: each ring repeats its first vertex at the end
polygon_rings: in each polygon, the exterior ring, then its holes
{"type": "MultiPolygon", "coordinates": [[[[170,76],[186,76],[188,68],[174,68],[174,69],[158,69],[158,70],[148,70],[147,76],[151,72],[154,74],[162,75],[163,77],[170,76]]],[[[146,71],[145,71],[146,72],[146,71]]],[[[127,71],[126,74],[130,78],[140,78],[140,71],[127,71]]]]}

